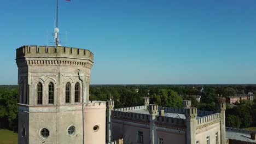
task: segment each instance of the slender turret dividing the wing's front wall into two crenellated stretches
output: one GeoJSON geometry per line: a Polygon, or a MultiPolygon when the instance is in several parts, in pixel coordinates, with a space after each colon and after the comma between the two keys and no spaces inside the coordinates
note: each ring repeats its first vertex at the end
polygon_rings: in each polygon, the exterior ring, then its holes
{"type": "Polygon", "coordinates": [[[149,120],[150,120],[150,144],[157,143],[156,140],[156,117],[158,116],[158,105],[148,105],[149,120]]]}

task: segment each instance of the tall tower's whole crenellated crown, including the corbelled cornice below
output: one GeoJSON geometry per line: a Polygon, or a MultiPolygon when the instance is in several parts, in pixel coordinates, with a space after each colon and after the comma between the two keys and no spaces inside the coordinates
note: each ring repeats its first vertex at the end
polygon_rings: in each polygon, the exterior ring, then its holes
{"type": "Polygon", "coordinates": [[[16,59],[22,58],[26,59],[18,61],[18,67],[24,65],[81,65],[90,68],[94,55],[89,50],[74,47],[26,45],[16,49],[16,59]],[[86,63],[85,60],[89,62],[86,63]]]}

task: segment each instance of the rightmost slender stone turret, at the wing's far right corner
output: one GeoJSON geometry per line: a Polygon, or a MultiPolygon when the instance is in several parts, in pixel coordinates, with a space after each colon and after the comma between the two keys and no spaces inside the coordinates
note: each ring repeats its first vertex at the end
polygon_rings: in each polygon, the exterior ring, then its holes
{"type": "Polygon", "coordinates": [[[225,127],[225,110],[226,110],[226,99],[218,98],[218,109],[220,113],[220,143],[226,142],[226,127],[225,127]]]}

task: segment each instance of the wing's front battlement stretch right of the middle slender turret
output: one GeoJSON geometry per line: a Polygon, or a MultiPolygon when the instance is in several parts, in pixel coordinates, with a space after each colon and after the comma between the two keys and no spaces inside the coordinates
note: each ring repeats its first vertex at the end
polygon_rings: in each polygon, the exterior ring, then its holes
{"type": "Polygon", "coordinates": [[[185,119],[165,117],[165,116],[158,116],[158,118],[156,119],[156,122],[160,124],[168,124],[168,125],[178,125],[178,126],[185,125],[185,119]]]}

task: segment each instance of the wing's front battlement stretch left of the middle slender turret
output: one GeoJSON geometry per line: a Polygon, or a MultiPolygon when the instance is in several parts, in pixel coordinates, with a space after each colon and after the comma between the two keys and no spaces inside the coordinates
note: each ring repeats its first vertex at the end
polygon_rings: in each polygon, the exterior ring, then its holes
{"type": "Polygon", "coordinates": [[[111,116],[149,121],[149,115],[125,111],[111,111],[111,116]]]}

